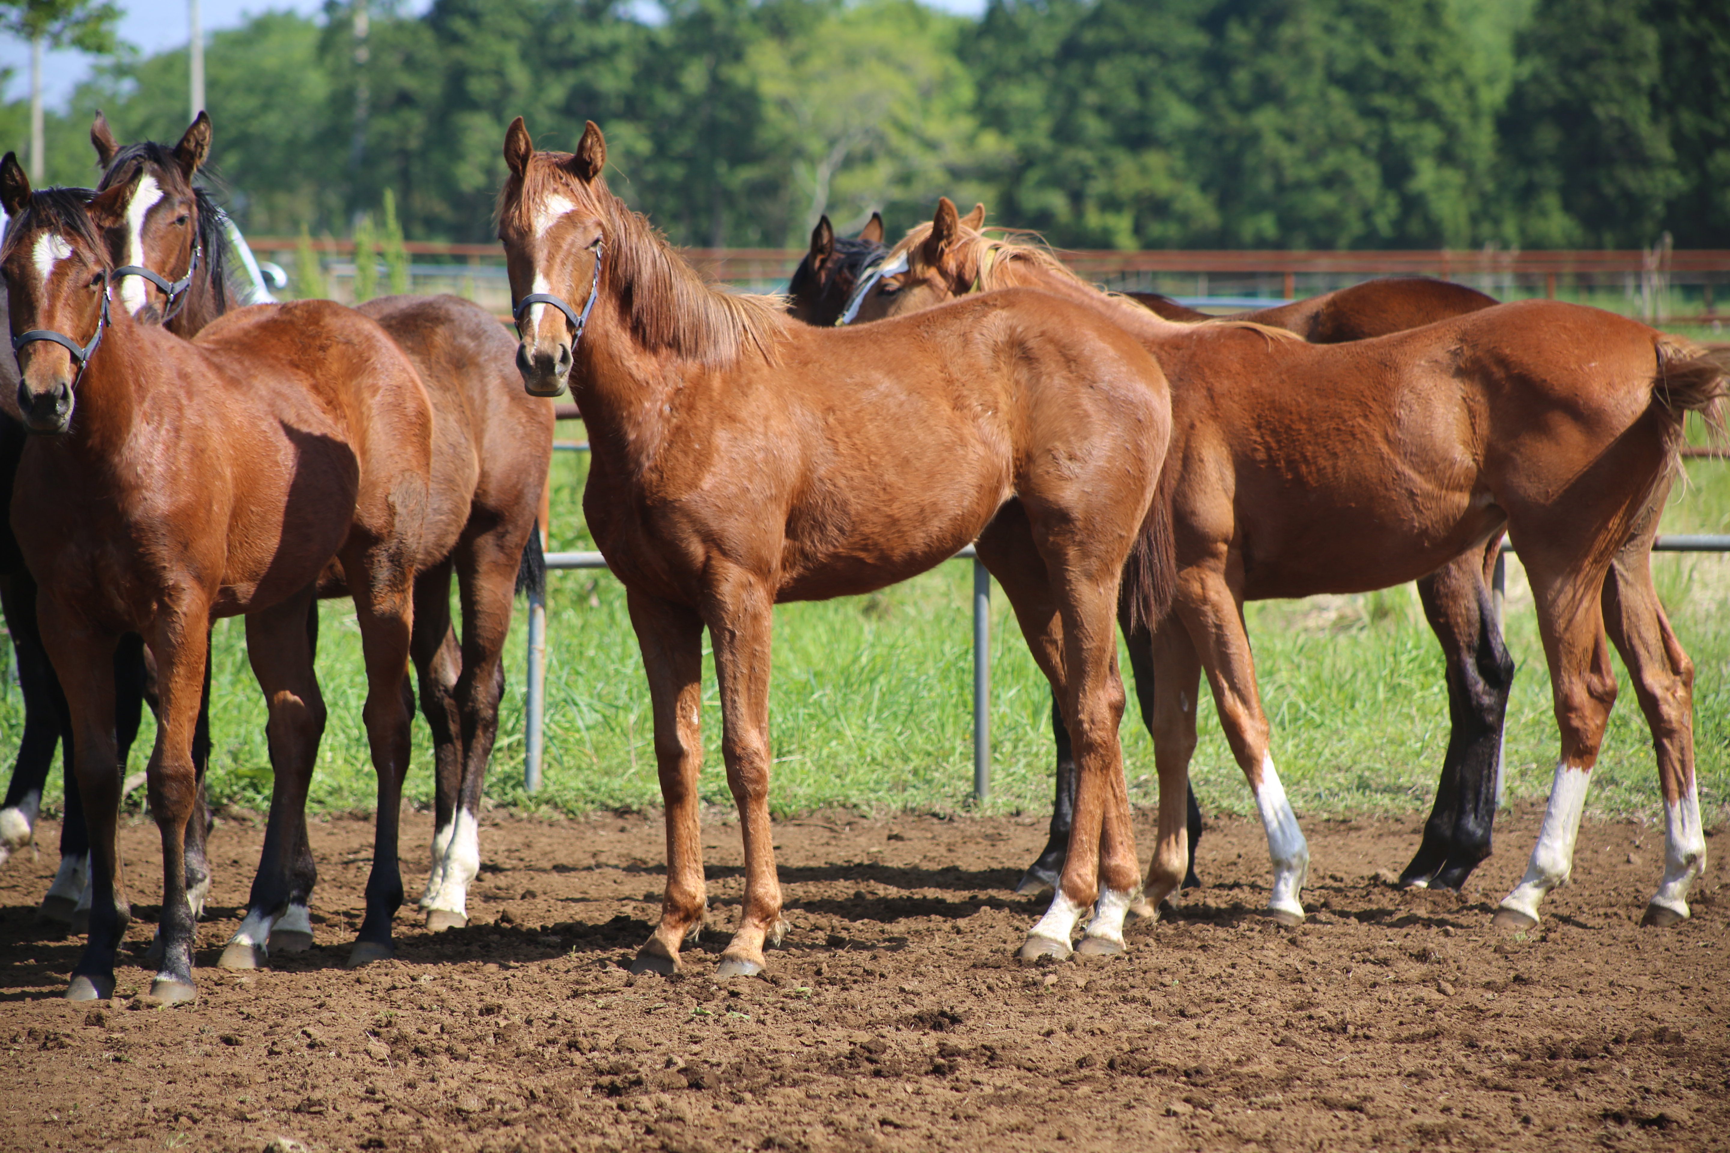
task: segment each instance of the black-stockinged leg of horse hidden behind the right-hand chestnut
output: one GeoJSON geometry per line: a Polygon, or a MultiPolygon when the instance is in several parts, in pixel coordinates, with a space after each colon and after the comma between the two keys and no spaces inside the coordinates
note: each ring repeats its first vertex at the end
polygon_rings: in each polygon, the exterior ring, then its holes
{"type": "Polygon", "coordinates": [[[1484,553],[1457,557],[1419,581],[1419,600],[1446,660],[1450,733],[1417,856],[1400,875],[1403,889],[1460,889],[1490,857],[1496,814],[1502,728],[1514,660],[1502,645],[1484,553]]]}

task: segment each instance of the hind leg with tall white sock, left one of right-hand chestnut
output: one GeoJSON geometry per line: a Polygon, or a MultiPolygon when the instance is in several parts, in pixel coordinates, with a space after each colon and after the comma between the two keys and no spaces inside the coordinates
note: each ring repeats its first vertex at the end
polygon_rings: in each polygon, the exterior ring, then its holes
{"type": "Polygon", "coordinates": [[[1496,908],[1495,923],[1500,928],[1531,928],[1538,923],[1538,904],[1545,894],[1567,883],[1592,768],[1616,704],[1616,674],[1599,607],[1602,570],[1550,564],[1538,550],[1522,551],[1522,558],[1550,662],[1562,754],[1526,873],[1496,908]]]}

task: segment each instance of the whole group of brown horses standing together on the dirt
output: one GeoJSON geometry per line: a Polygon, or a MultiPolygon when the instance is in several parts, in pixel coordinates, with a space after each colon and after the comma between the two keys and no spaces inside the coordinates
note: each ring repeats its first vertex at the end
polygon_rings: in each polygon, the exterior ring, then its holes
{"type": "Polygon", "coordinates": [[[246,918],[220,963],[311,944],[320,596],[355,602],[379,778],[351,965],[389,956],[403,902],[410,662],[438,771],[420,906],[431,928],[465,923],[500,647],[514,584],[540,579],[552,408],[538,398],[566,389],[592,446],[585,517],[642,647],[666,806],[666,895],[637,971],[678,970],[706,916],[704,629],[746,854],[727,978],[761,971],[784,930],[768,816],[773,605],[867,593],[967,543],[1054,695],[1050,842],[1021,883],[1054,895],[1022,958],[1118,952],[1128,916],[1156,916],[1194,882],[1202,672],[1266,828],[1268,913],[1303,920],[1310,852],[1275,771],[1246,600],[1419,583],[1453,733],[1403,883],[1462,885],[1490,854],[1512,681],[1486,586],[1503,532],[1531,579],[1560,755],[1496,921],[1535,923],[1567,880],[1616,697],[1605,633],[1652,729],[1666,809],[1647,921],[1688,914],[1706,857],[1694,669],[1649,553],[1683,415],[1723,391],[1711,354],[1597,309],[1496,304],[1432,280],[1209,320],[1100,292],[946,199],[893,247],[875,218],[855,240],[825,218],[789,299],[739,296],[702,282],[607,190],[595,124],[574,154],[540,152],[521,118],[498,201],[519,341],[453,297],[230,308],[220,216],[194,183],[209,138],[199,114],[175,147],[121,147],[99,116],[93,192],[33,190],[14,156],[0,162],[19,372],[16,418],[0,422],[0,591],[26,688],[0,837],[28,840],[64,740],[62,866],[43,913],[86,909],[69,997],[114,989],[128,916],[119,787],[145,697],[163,837],[151,992],[194,997],[215,617],[246,617],[275,773],[246,918]],[[1119,629],[1161,785],[1145,878],[1118,743],[1119,629]]]}

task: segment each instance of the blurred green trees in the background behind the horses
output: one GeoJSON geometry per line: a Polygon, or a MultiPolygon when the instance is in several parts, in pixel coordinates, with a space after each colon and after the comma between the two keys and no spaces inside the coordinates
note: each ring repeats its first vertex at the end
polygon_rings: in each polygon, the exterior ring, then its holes
{"type": "MultiPolygon", "coordinates": [[[[394,194],[490,240],[503,126],[606,131],[680,244],[803,245],[939,194],[1076,247],[1730,247],[1721,0],[374,0],[211,36],[213,171],[256,233],[349,235],[394,194]]],[[[185,128],[185,50],[47,118],[48,178],[185,128]]],[[[5,147],[28,118],[0,109],[5,147]]]]}

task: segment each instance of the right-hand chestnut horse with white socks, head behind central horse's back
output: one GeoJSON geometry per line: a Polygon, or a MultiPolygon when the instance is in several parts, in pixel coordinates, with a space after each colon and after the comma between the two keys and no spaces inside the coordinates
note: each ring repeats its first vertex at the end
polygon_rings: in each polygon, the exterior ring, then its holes
{"type": "MultiPolygon", "coordinates": [[[[1161,781],[1149,902],[1182,878],[1178,787],[1195,748],[1195,686],[1206,671],[1268,835],[1268,909],[1282,921],[1303,918],[1310,854],[1273,769],[1242,603],[1453,572],[1479,579],[1481,615],[1483,558],[1507,531],[1533,584],[1562,750],[1538,847],[1496,920],[1535,925],[1543,894],[1567,880],[1616,698],[1605,627],[1635,678],[1666,807],[1664,876],[1647,920],[1688,914],[1687,890],[1706,861],[1694,666],[1652,589],[1649,555],[1683,415],[1714,408],[1723,392],[1716,358],[1623,316],[1555,301],[1332,346],[1176,323],[1083,283],[1043,249],[965,228],[948,201],[889,259],[900,271],[867,282],[860,318],[919,313],[974,285],[1036,285],[1112,316],[1169,375],[1175,479],[1161,493],[1171,500],[1178,584],[1171,621],[1128,643],[1161,781]]],[[[1426,598],[1426,612],[1438,633],[1464,633],[1467,624],[1446,610],[1472,600],[1455,589],[1426,598]]],[[[1486,640],[1490,666],[1510,671],[1500,638],[1486,640]]],[[[1493,773],[1481,776],[1493,812],[1493,773]]],[[[1439,792],[1448,785],[1445,771],[1439,792]]]]}

